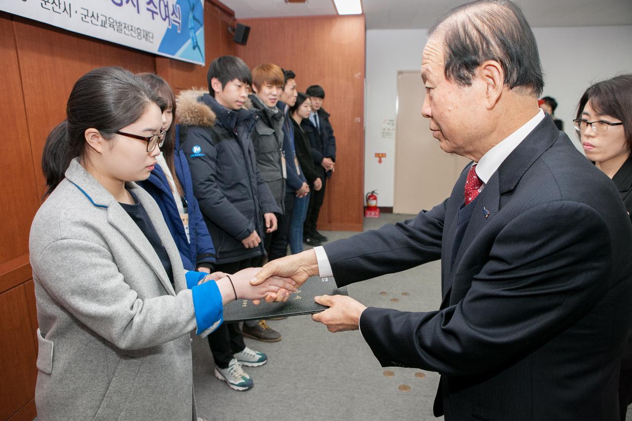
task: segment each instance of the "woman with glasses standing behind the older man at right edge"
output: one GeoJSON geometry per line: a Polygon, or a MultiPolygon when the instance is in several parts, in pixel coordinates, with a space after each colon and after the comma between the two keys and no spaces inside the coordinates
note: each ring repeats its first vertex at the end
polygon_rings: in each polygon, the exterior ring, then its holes
{"type": "MultiPolygon", "coordinates": [[[[590,161],[617,186],[632,213],[632,74],[595,83],[581,96],[573,120],[590,161]]],[[[632,339],[632,338],[631,338],[632,339]]],[[[632,341],[628,342],[619,376],[619,409],[626,419],[632,403],[632,341]]]]}

